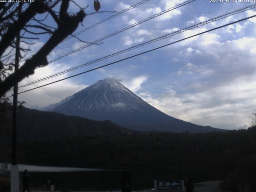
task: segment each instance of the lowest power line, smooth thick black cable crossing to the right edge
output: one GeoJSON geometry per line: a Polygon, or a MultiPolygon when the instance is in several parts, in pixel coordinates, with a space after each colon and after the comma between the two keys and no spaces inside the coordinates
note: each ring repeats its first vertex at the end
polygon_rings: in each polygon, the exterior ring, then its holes
{"type": "Polygon", "coordinates": [[[20,93],[18,93],[18,94],[21,94],[21,93],[24,93],[24,92],[28,92],[28,91],[31,91],[31,90],[35,90],[35,89],[38,89],[38,88],[41,88],[41,87],[44,87],[44,86],[47,86],[47,85],[50,85],[50,84],[54,84],[54,83],[56,83],[56,82],[60,82],[60,81],[63,81],[63,80],[66,80],[66,79],[69,79],[69,78],[72,78],[72,77],[75,77],[75,76],[78,76],[78,75],[81,75],[81,74],[85,74],[85,73],[88,73],[88,72],[91,72],[91,71],[94,71],[94,70],[97,70],[97,69],[100,69],[100,68],[103,68],[103,67],[106,67],[106,66],[110,66],[110,65],[112,65],[112,64],[115,64],[115,63],[118,63],[118,62],[121,62],[121,61],[130,59],[130,58],[133,58],[133,57],[136,57],[136,56],[139,56],[139,55],[148,53],[148,52],[152,52],[152,51],[154,51],[154,50],[158,50],[158,49],[160,49],[160,48],[169,46],[169,45],[171,45],[171,44],[175,44],[175,43],[178,43],[178,42],[187,40],[187,39],[189,39],[189,38],[192,38],[192,37],[195,37],[195,36],[198,36],[198,35],[201,35],[201,34],[204,34],[204,33],[207,33],[207,32],[210,32],[210,31],[213,31],[213,30],[216,30],[216,29],[219,29],[219,28],[228,26],[228,25],[232,25],[232,24],[235,24],[235,23],[238,23],[238,22],[241,22],[241,21],[244,21],[244,20],[253,18],[253,17],[256,17],[256,14],[253,15],[253,16],[250,16],[250,17],[246,17],[246,18],[243,18],[243,19],[240,19],[240,20],[237,20],[237,21],[228,23],[228,24],[224,24],[224,25],[222,25],[222,26],[218,26],[218,27],[216,27],[216,28],[212,28],[212,29],[210,29],[210,30],[206,30],[206,31],[204,31],[204,32],[201,32],[201,33],[198,33],[198,34],[195,34],[195,35],[192,35],[192,36],[189,36],[189,37],[186,37],[186,38],[177,40],[177,41],[175,41],[175,42],[172,42],[172,43],[169,43],[169,44],[166,44],[166,45],[163,45],[163,46],[160,46],[160,47],[157,47],[157,48],[154,48],[154,49],[151,49],[151,50],[148,50],[148,51],[145,51],[145,52],[142,52],[142,53],[139,53],[139,54],[130,56],[130,57],[126,57],[126,58],[124,58],[124,59],[121,59],[121,60],[118,60],[118,61],[115,61],[115,62],[106,64],[106,65],[103,65],[103,66],[100,66],[100,67],[97,67],[97,68],[94,68],[94,69],[91,69],[91,70],[87,70],[87,71],[82,72],[82,73],[78,73],[78,74],[75,74],[75,75],[72,75],[72,76],[69,76],[69,77],[66,77],[66,78],[63,78],[63,79],[60,79],[60,80],[57,80],[57,81],[48,83],[48,84],[44,84],[44,85],[42,85],[42,86],[38,86],[38,87],[35,87],[35,88],[32,88],[32,89],[26,90],[26,91],[22,91],[22,92],[20,92],[20,93]]]}

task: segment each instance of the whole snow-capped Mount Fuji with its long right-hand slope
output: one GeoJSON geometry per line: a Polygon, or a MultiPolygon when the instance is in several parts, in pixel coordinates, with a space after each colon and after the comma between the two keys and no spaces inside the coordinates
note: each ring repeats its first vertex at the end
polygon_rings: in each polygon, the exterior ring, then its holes
{"type": "Polygon", "coordinates": [[[93,120],[111,120],[138,131],[211,132],[220,130],[168,116],[112,78],[100,80],[44,110],[93,120]]]}

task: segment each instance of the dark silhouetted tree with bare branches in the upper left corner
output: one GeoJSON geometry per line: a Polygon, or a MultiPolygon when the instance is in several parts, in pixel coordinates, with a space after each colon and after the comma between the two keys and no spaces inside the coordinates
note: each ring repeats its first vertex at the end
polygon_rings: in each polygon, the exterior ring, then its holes
{"type": "MultiPolygon", "coordinates": [[[[0,99],[4,97],[4,94],[14,84],[33,74],[36,68],[48,64],[46,56],[68,35],[72,35],[72,32],[76,30],[79,23],[84,20],[86,16],[84,10],[86,8],[80,7],[75,0],[36,0],[29,3],[0,3],[0,99]],[[76,14],[70,14],[68,12],[70,3],[78,6],[80,11],[76,14]],[[18,15],[19,10],[20,14],[18,15]],[[45,16],[45,18],[36,18],[38,15],[45,16]],[[48,20],[48,17],[54,20],[55,26],[47,24],[46,19],[48,20]],[[20,42],[24,42],[28,46],[33,44],[31,40],[39,39],[38,35],[49,34],[50,37],[14,73],[12,72],[14,66],[12,58],[16,48],[15,42],[18,33],[21,34],[20,42]]],[[[96,8],[98,12],[100,8],[99,2],[96,8]]],[[[20,47],[20,52],[23,52],[23,55],[20,54],[19,58],[23,58],[28,51],[30,51],[29,47],[20,47]]]]}

